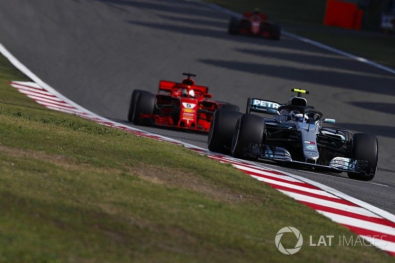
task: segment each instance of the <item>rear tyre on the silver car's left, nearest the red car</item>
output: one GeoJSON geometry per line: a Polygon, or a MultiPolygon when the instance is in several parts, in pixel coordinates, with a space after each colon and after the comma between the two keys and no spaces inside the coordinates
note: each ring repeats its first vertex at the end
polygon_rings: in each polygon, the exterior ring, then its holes
{"type": "Polygon", "coordinates": [[[213,114],[210,129],[208,131],[208,150],[220,153],[230,153],[232,146],[233,132],[238,117],[241,113],[218,109],[213,114]]]}

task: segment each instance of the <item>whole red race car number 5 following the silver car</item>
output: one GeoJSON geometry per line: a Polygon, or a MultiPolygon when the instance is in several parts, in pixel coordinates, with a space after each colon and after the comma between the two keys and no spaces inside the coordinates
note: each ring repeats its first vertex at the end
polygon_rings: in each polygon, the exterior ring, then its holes
{"type": "Polygon", "coordinates": [[[128,120],[140,125],[158,125],[208,132],[217,109],[239,111],[236,105],[210,101],[208,87],[195,85],[190,73],[181,83],[160,80],[158,93],[135,89],[128,120]]]}

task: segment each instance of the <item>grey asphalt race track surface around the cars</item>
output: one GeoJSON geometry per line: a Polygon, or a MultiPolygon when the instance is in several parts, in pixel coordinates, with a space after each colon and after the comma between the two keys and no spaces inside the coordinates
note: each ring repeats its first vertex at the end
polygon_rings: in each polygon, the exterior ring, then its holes
{"type": "MultiPolygon", "coordinates": [[[[181,80],[182,72],[240,109],[248,96],[284,103],[291,88],[305,88],[309,105],[336,127],[377,135],[376,177],[276,168],[394,214],[395,75],[294,38],[229,36],[228,21],[183,0],[1,0],[0,42],[66,97],[125,123],[133,89],[155,92],[159,79],[181,80]]],[[[207,147],[204,134],[138,128],[207,147]]]]}

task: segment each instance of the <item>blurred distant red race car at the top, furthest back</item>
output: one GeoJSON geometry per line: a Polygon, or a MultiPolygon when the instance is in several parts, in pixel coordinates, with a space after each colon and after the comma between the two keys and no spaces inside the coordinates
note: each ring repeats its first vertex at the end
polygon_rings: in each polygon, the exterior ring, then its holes
{"type": "Polygon", "coordinates": [[[229,23],[229,34],[243,34],[264,38],[280,39],[280,25],[268,21],[266,14],[245,12],[242,18],[232,17],[229,23]]]}

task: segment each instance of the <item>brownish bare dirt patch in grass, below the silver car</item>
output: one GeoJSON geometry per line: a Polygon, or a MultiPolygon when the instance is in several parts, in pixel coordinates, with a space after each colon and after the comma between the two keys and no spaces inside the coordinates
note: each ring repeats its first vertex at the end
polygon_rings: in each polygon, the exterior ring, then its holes
{"type": "Polygon", "coordinates": [[[186,173],[177,169],[142,165],[140,167],[129,167],[129,171],[151,183],[194,190],[218,201],[262,201],[262,197],[236,192],[229,188],[218,187],[197,174],[186,173]]]}

